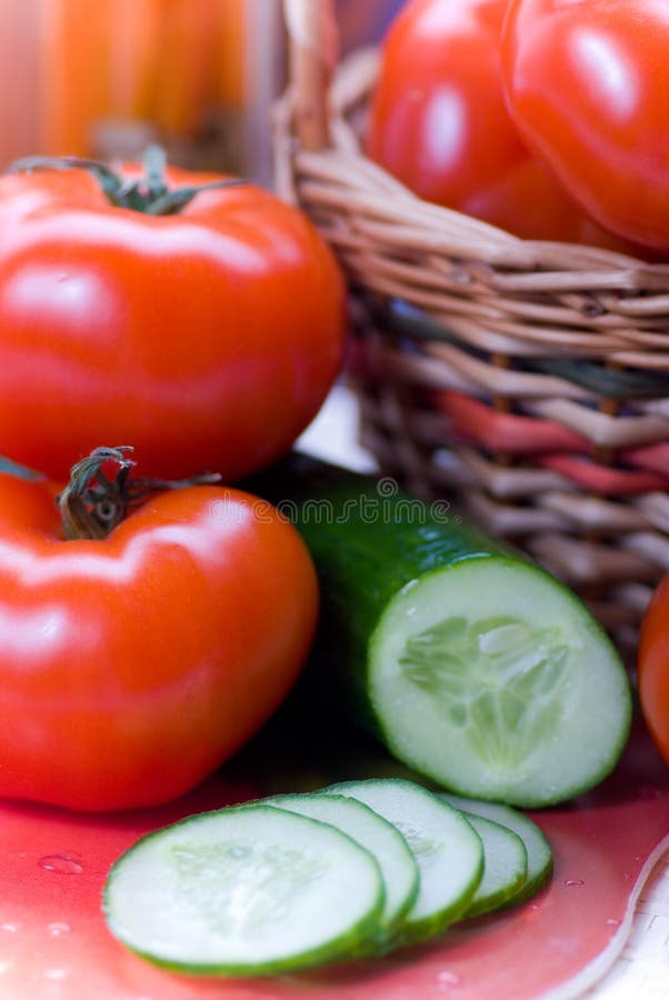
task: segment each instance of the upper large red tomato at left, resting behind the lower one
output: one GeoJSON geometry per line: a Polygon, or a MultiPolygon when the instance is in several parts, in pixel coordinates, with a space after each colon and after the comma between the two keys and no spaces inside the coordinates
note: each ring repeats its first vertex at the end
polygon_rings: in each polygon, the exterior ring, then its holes
{"type": "Polygon", "coordinates": [[[161,194],[221,178],[168,168],[149,191],[128,164],[128,193],[96,169],[0,179],[0,453],[60,479],[100,441],[167,478],[273,461],[340,366],[331,251],[252,184],[151,214],[161,194]]]}

